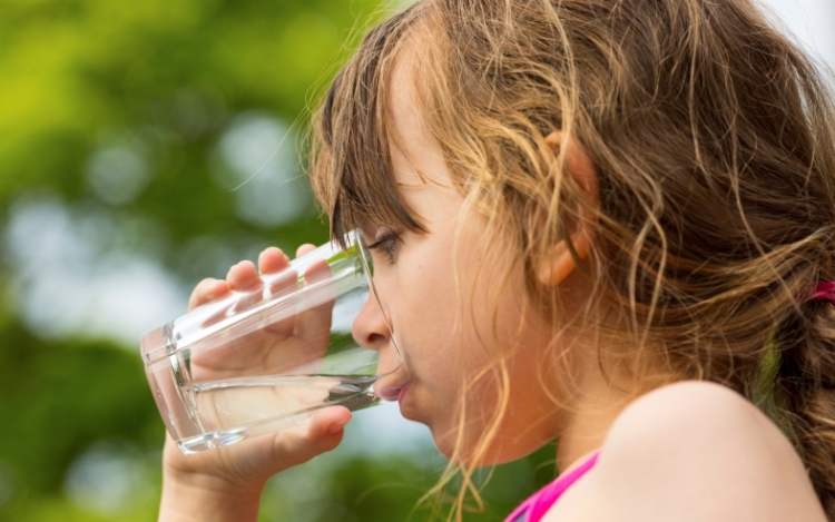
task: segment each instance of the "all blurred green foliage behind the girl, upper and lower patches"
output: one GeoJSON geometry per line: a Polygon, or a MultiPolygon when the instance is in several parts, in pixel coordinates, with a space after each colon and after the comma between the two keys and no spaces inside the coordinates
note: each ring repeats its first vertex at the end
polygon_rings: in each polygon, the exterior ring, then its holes
{"type": "MultiPolygon", "coordinates": [[[[3,0],[0,226],[20,201],[48,194],[71,220],[99,223],[88,232],[100,236],[98,257],[153,259],[184,288],[266,245],[325,240],[312,204],[277,224],[247,215],[230,190],[242,179],[228,173],[224,140],[242,121],[274,121],[268,129],[289,128],[296,142],[363,28],[390,9],[374,0],[3,0]]],[[[47,232],[27,234],[35,242],[47,232]]],[[[27,321],[24,294],[39,273],[20,274],[39,265],[12,252],[28,243],[17,240],[0,252],[0,521],[153,520],[163,425],[136,347],[85,325],[56,335],[27,321]],[[85,482],[112,469],[121,482],[105,485],[127,504],[107,504],[95,491],[102,483],[85,482]]],[[[49,292],[66,308],[80,297],[60,284],[49,292]]],[[[493,502],[472,520],[500,520],[552,476],[542,464],[552,455],[548,447],[500,467],[485,490],[493,502]]],[[[271,482],[263,520],[425,520],[412,510],[443,461],[325,455],[308,466],[271,482]],[[293,489],[305,477],[316,480],[307,496],[293,489]]]]}

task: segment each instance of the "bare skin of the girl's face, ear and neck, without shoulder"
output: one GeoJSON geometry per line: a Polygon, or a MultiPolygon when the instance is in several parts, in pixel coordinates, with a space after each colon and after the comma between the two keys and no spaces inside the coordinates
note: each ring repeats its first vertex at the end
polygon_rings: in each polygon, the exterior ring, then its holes
{"type": "MultiPolygon", "coordinates": [[[[600,373],[593,345],[581,332],[563,335],[556,346],[556,353],[570,353],[576,393],[560,396],[557,387],[542,385],[563,378],[556,373],[543,375],[542,371],[548,365],[542,348],[552,341],[553,326],[528,302],[521,260],[491,256],[497,250],[513,252],[514,247],[491,243],[484,234],[485,217],[465,210],[441,147],[416,109],[411,70],[403,66],[410,62],[409,48],[403,52],[389,90],[396,136],[391,160],[406,205],[429,233],[364,227],[369,243],[392,233],[397,239],[387,245],[390,252],[385,254],[391,257],[374,254],[375,285],[384,309],[366,305],[354,324],[354,336],[366,346],[375,343],[385,357],[386,351],[393,351],[383,319],[389,317],[409,368],[401,412],[406,418],[426,424],[446,456],[453,456],[455,436],[462,439],[464,453],[454,456],[484,465],[519,459],[560,435],[558,462],[561,469],[568,467],[602,444],[608,426],[636,394],[613,392],[616,388],[600,373]],[[452,274],[463,292],[455,292],[452,274]],[[497,295],[495,282],[505,274],[509,282],[497,295]],[[524,327],[517,334],[520,324],[524,327]],[[508,411],[487,454],[472,461],[466,450],[475,447],[490,426],[490,418],[478,416],[478,412],[495,411],[498,398],[490,378],[482,380],[483,385],[478,383],[468,394],[462,383],[474,380],[498,357],[504,358],[508,372],[508,411]],[[469,412],[463,431],[458,430],[458,412],[450,407],[460,405],[461,397],[469,412]],[[554,397],[566,407],[554,407],[554,397]]],[[[562,135],[553,132],[547,141],[556,150],[562,135]]],[[[576,144],[568,144],[567,155],[571,175],[588,199],[597,201],[597,179],[590,159],[576,144]]],[[[593,234],[578,225],[572,239],[578,254],[588,255],[593,234]]],[[[590,294],[588,282],[576,269],[563,243],[554,245],[536,270],[541,284],[558,286],[562,297],[577,309],[584,306],[584,297],[590,294]]],[[[635,388],[631,383],[622,384],[626,390],[635,388]]]]}

